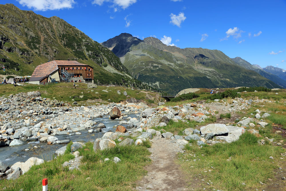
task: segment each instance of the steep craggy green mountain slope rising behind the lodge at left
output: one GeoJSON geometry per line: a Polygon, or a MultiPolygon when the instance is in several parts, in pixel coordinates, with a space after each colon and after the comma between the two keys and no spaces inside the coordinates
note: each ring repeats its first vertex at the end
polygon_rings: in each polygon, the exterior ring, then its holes
{"type": "Polygon", "coordinates": [[[46,18],[6,4],[0,5],[0,23],[0,66],[7,74],[31,75],[49,60],[77,59],[94,67],[95,81],[142,85],[112,51],[59,17],[46,18]]]}

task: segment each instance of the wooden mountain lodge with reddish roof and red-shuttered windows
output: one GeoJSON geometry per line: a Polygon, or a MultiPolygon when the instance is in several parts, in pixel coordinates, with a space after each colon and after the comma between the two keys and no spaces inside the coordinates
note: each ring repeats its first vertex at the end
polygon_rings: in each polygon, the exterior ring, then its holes
{"type": "Polygon", "coordinates": [[[93,67],[75,60],[53,60],[37,66],[29,83],[41,82],[93,82],[93,67]]]}

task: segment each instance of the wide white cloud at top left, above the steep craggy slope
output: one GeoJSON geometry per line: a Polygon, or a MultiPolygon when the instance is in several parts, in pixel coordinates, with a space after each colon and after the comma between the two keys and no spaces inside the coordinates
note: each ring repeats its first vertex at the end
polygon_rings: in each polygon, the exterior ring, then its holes
{"type": "Polygon", "coordinates": [[[73,8],[74,0],[17,0],[22,6],[34,8],[37,11],[73,8]]]}

